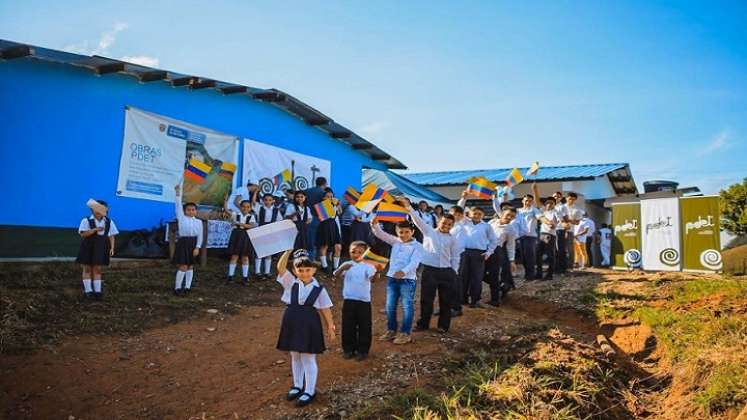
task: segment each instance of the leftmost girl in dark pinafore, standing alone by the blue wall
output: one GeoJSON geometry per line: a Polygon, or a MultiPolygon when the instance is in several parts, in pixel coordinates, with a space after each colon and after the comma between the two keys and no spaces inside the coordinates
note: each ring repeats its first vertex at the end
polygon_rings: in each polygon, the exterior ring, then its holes
{"type": "Polygon", "coordinates": [[[75,261],[83,269],[85,296],[101,299],[101,267],[109,265],[109,259],[114,255],[114,237],[119,231],[114,221],[107,217],[109,206],[106,202],[96,200],[96,204],[91,206],[92,215],[80,221],[78,233],[83,240],[75,261]]]}

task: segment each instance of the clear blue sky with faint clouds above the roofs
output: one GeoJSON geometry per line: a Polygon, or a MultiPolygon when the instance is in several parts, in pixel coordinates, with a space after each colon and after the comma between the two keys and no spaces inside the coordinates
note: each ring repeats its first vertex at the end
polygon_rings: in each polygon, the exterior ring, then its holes
{"type": "MultiPolygon", "coordinates": [[[[275,87],[412,171],[747,176],[747,2],[0,0],[0,38],[275,87]]],[[[261,139],[260,139],[261,140],[261,139]]]]}

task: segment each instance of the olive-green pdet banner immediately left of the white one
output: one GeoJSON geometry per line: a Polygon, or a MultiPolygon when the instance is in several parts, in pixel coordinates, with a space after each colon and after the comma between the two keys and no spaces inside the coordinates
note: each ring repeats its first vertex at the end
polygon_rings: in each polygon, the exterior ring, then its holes
{"type": "Polygon", "coordinates": [[[612,265],[618,269],[641,266],[641,205],[612,205],[612,265]]]}

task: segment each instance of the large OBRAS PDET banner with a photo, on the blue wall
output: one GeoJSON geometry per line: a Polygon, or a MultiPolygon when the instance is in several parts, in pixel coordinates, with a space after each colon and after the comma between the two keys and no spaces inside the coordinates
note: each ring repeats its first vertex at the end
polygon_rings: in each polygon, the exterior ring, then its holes
{"type": "Polygon", "coordinates": [[[173,202],[183,180],[183,202],[222,207],[233,185],[238,138],[142,111],[125,109],[117,195],[173,202]]]}

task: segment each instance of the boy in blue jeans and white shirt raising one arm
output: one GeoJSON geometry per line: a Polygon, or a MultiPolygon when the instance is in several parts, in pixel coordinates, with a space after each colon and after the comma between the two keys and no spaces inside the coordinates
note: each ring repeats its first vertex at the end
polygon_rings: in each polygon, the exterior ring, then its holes
{"type": "Polygon", "coordinates": [[[394,344],[407,344],[412,341],[412,320],[415,318],[415,272],[420,264],[423,246],[413,239],[414,229],[410,222],[397,223],[397,236],[390,235],[379,226],[376,219],[371,221],[374,236],[392,246],[389,255],[389,271],[386,284],[387,331],[379,340],[394,340],[394,344]],[[402,324],[397,332],[397,306],[402,302],[402,324]]]}

